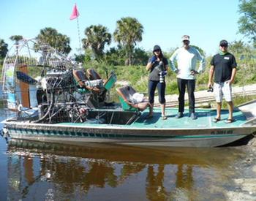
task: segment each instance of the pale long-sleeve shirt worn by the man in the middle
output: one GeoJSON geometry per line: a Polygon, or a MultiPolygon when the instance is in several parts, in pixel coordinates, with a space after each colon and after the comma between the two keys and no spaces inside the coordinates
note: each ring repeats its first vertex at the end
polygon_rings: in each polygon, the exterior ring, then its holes
{"type": "Polygon", "coordinates": [[[174,72],[178,72],[177,77],[186,80],[194,80],[195,75],[191,75],[192,70],[196,70],[197,61],[200,61],[200,66],[197,72],[201,73],[206,69],[206,62],[199,51],[194,47],[178,48],[170,57],[170,67],[174,72]],[[178,67],[175,65],[177,61],[178,67]]]}

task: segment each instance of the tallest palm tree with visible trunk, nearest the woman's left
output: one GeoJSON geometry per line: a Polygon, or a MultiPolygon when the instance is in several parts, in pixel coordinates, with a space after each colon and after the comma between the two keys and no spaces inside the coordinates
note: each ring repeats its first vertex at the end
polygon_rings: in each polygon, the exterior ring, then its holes
{"type": "Polygon", "coordinates": [[[127,63],[132,64],[132,53],[136,42],[142,41],[143,26],[136,18],[121,18],[116,22],[114,39],[127,53],[127,63]]]}

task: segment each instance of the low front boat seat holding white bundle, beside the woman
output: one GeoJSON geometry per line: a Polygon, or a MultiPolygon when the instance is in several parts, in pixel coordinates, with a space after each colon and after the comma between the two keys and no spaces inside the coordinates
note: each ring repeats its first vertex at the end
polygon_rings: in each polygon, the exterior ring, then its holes
{"type": "Polygon", "coordinates": [[[123,110],[139,110],[143,111],[148,107],[148,99],[144,98],[140,102],[136,102],[133,95],[136,93],[132,86],[123,86],[116,88],[119,100],[123,110]]]}

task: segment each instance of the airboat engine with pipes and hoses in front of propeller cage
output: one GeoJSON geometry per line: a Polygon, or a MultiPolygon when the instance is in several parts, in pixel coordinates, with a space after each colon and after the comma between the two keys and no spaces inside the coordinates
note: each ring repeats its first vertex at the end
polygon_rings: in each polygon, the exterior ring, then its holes
{"type": "Polygon", "coordinates": [[[42,89],[45,91],[42,96],[47,97],[47,102],[41,98],[39,120],[51,123],[69,121],[69,107],[75,102],[72,96],[75,90],[72,69],[50,69],[41,82],[45,82],[41,83],[42,89]]]}

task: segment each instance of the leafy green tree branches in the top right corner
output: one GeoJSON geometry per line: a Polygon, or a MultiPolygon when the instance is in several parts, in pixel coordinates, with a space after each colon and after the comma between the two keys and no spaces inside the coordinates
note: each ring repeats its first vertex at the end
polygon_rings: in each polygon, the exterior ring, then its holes
{"type": "Polygon", "coordinates": [[[256,46],[256,0],[240,0],[238,7],[242,15],[238,20],[238,31],[252,39],[256,46]]]}

